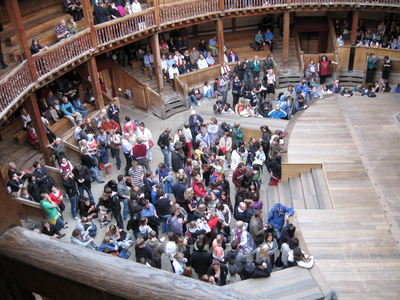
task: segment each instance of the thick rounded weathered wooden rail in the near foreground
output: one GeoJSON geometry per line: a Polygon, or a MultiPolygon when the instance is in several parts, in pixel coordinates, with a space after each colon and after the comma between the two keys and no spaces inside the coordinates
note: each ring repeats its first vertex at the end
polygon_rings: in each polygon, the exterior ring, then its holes
{"type": "Polygon", "coordinates": [[[7,282],[49,299],[256,299],[22,227],[1,236],[0,257],[7,282]]]}

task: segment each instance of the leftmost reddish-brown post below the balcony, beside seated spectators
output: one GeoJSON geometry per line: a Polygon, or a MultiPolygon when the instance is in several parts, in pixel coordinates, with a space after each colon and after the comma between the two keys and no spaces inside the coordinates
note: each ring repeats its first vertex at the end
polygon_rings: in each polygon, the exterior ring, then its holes
{"type": "Polygon", "coordinates": [[[39,106],[37,104],[35,94],[31,94],[25,100],[26,109],[31,116],[32,126],[35,128],[36,135],[38,137],[38,142],[40,146],[40,151],[43,154],[43,159],[46,165],[54,166],[54,162],[52,162],[52,154],[47,149],[47,145],[49,144],[49,140],[47,139],[46,132],[44,130],[42,118],[39,112],[39,106]]]}

